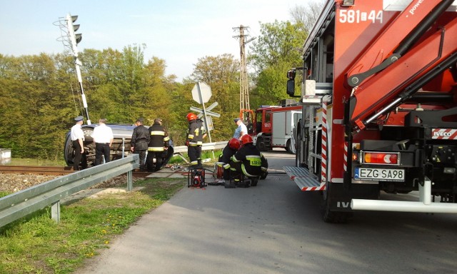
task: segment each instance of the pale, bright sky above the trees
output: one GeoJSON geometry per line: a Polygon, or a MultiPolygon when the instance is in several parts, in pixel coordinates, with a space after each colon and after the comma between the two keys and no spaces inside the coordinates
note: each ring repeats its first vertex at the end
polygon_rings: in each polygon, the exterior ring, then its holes
{"type": "Polygon", "coordinates": [[[0,54],[63,53],[61,31],[53,23],[78,15],[80,51],[146,44],[145,62],[164,59],[166,74],[181,81],[205,56],[239,59],[233,27],[249,26],[249,37],[258,36],[259,22],[290,21],[289,11],[309,1],[316,0],[0,0],[0,54]]]}

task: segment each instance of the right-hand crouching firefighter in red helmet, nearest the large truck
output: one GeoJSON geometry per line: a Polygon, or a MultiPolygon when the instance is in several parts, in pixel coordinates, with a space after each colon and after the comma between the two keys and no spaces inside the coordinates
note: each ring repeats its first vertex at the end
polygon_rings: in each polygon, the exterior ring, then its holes
{"type": "Polygon", "coordinates": [[[251,179],[251,185],[256,186],[259,176],[263,176],[268,168],[268,161],[258,148],[253,145],[252,137],[248,134],[241,136],[241,147],[232,157],[233,168],[231,177],[240,187],[248,187],[249,183],[242,176],[251,179]]]}

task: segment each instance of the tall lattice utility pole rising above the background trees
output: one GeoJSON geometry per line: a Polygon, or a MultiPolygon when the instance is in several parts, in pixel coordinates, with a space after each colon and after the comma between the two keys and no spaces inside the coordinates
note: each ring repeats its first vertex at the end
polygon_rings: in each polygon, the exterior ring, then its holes
{"type": "MultiPolygon", "coordinates": [[[[248,26],[237,26],[232,28],[234,31],[239,30],[238,36],[233,36],[233,38],[239,38],[240,42],[240,115],[243,116],[243,112],[250,109],[249,107],[249,84],[248,84],[248,70],[246,66],[246,51],[245,45],[248,44],[255,37],[248,39],[246,41],[246,36],[248,34],[244,34],[244,31],[247,30],[248,26]]],[[[241,117],[244,118],[244,117],[241,117]]]]}

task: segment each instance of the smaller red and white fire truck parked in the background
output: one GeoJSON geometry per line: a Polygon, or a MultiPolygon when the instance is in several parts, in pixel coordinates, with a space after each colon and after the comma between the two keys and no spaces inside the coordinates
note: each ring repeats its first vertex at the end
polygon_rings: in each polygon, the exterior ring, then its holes
{"type": "Polygon", "coordinates": [[[256,109],[254,128],[251,131],[258,150],[286,148],[288,153],[295,153],[295,130],[301,106],[261,106],[256,109]]]}

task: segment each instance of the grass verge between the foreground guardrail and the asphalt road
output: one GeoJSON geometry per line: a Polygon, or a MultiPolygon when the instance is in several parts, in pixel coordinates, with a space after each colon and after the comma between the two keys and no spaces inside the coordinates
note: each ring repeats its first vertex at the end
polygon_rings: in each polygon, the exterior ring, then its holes
{"type": "Polygon", "coordinates": [[[184,179],[151,178],[134,184],[141,191],[62,205],[60,223],[46,208],[6,225],[0,228],[0,273],[72,273],[185,185],[184,179]]]}

